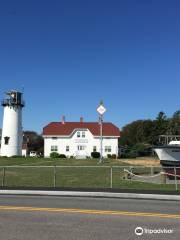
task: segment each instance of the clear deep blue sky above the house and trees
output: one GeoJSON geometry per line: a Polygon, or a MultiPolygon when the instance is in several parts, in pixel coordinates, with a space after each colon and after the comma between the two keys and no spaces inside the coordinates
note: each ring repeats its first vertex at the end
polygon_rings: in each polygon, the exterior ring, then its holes
{"type": "MultiPolygon", "coordinates": [[[[24,129],[50,121],[120,128],[180,109],[177,0],[0,1],[0,96],[24,87],[24,129]]],[[[3,109],[0,109],[0,124],[3,109]]],[[[1,124],[2,125],[2,124],[1,124]]]]}

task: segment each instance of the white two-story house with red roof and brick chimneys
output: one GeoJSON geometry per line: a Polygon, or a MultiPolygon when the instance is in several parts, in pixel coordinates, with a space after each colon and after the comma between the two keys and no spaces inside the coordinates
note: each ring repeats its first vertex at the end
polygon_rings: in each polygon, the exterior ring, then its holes
{"type": "MultiPolygon", "coordinates": [[[[118,155],[119,128],[110,122],[103,122],[103,157],[118,155]]],[[[100,152],[100,124],[98,122],[51,122],[43,128],[44,156],[51,152],[67,157],[90,157],[91,152],[100,152]]]]}

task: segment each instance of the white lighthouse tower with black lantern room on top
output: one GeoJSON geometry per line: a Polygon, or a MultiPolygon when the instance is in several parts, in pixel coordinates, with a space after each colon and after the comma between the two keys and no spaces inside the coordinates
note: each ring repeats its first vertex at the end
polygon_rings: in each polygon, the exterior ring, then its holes
{"type": "Polygon", "coordinates": [[[21,156],[22,155],[22,108],[24,102],[22,93],[10,91],[2,101],[4,107],[2,137],[1,137],[1,156],[21,156]]]}

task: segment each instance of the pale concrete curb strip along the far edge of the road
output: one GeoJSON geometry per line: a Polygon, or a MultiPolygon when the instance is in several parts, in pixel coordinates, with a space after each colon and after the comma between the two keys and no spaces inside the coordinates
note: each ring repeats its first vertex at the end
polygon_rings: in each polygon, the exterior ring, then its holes
{"type": "Polygon", "coordinates": [[[40,196],[98,197],[98,198],[123,198],[123,199],[180,201],[179,195],[114,193],[114,192],[0,190],[0,195],[37,195],[37,196],[40,195],[40,196]]]}

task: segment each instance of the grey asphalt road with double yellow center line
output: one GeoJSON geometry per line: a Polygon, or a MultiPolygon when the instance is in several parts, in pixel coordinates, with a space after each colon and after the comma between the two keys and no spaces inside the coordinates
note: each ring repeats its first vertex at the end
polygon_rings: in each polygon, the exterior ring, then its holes
{"type": "Polygon", "coordinates": [[[179,240],[180,202],[1,195],[0,239],[179,240]]]}

